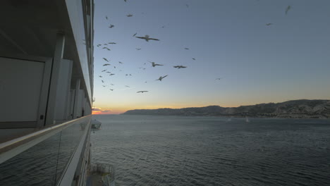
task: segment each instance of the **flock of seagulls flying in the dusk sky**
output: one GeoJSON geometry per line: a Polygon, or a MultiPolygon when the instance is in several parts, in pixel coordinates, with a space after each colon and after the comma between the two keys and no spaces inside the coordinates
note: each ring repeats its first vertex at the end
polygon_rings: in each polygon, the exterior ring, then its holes
{"type": "MultiPolygon", "coordinates": [[[[124,0],[125,2],[127,2],[127,0],[124,0]]],[[[186,4],[186,6],[187,6],[187,8],[189,8],[189,5],[188,4],[186,4]]],[[[288,11],[290,11],[291,10],[291,6],[287,6],[287,8],[286,8],[286,11],[285,11],[285,14],[288,14],[288,11]]],[[[133,17],[133,14],[127,14],[126,15],[128,18],[130,18],[130,17],[133,17]]],[[[106,18],[106,20],[109,20],[109,18],[108,18],[108,16],[105,16],[105,18],[106,18]]],[[[273,25],[273,23],[267,23],[266,24],[266,26],[270,26],[270,25],[273,25]]],[[[113,28],[113,27],[115,27],[114,25],[109,25],[109,28],[113,28]]],[[[164,28],[164,26],[162,27],[162,28],[164,28]]],[[[136,32],[134,35],[133,35],[133,37],[135,37],[135,38],[138,38],[138,39],[144,39],[146,42],[149,42],[150,40],[152,40],[152,41],[157,41],[157,42],[159,42],[160,40],[159,39],[157,39],[157,38],[152,38],[152,37],[150,37],[149,35],[145,35],[145,36],[137,36],[138,35],[138,32],[136,32]]],[[[113,44],[116,44],[116,42],[108,42],[108,43],[104,43],[104,44],[97,44],[97,47],[102,47],[102,49],[106,49],[106,50],[108,50],[108,51],[111,51],[111,49],[109,49],[109,45],[113,45],[113,44]]],[[[138,51],[140,51],[141,49],[140,48],[135,48],[136,50],[138,50],[138,51]]],[[[190,50],[189,48],[184,48],[185,50],[190,50]]],[[[196,61],[196,58],[192,58],[194,61],[196,61]]],[[[114,64],[111,64],[110,63],[110,60],[109,59],[107,59],[107,58],[103,58],[103,60],[106,62],[106,63],[104,63],[103,64],[103,66],[104,67],[107,67],[107,66],[113,66],[114,68],[116,68],[116,66],[114,66],[114,64]]],[[[151,64],[151,66],[152,66],[152,68],[155,68],[155,67],[157,67],[157,66],[164,66],[164,65],[162,65],[162,64],[158,64],[158,63],[155,63],[155,62],[153,62],[153,61],[148,61],[150,64],[151,64]]],[[[123,64],[123,62],[121,62],[121,61],[118,61],[118,63],[119,64],[123,64]]],[[[146,63],[144,63],[144,65],[146,65],[146,63]]],[[[187,68],[187,66],[182,66],[182,65],[178,65],[178,66],[173,66],[173,68],[178,68],[178,69],[181,69],[181,68],[187,68]]],[[[142,69],[142,70],[145,70],[146,68],[140,68],[140,69],[142,69]]],[[[121,70],[120,70],[121,71],[121,70]]],[[[108,69],[104,69],[104,70],[102,70],[102,73],[109,73],[109,75],[111,76],[111,75],[116,75],[116,74],[114,74],[114,73],[111,73],[108,69]]],[[[128,75],[130,75],[131,76],[131,74],[126,74],[126,76],[128,76],[128,75]]],[[[159,82],[161,82],[165,77],[167,77],[168,75],[164,75],[164,76],[159,76],[159,78],[157,79],[157,80],[155,80],[155,81],[159,81],[159,82]]],[[[100,78],[102,78],[103,76],[102,75],[99,75],[99,77],[100,78]]],[[[216,78],[215,80],[222,80],[222,77],[219,77],[219,78],[216,78]]],[[[102,79],[101,80],[101,82],[102,82],[102,84],[105,84],[105,82],[104,82],[104,80],[102,79]]],[[[112,85],[112,86],[114,86],[114,84],[110,84],[110,85],[112,85]]],[[[106,85],[102,85],[102,87],[106,87],[106,85]]],[[[130,86],[128,86],[128,85],[125,85],[125,87],[128,87],[128,88],[130,88],[130,86]]],[[[114,89],[113,88],[111,88],[111,89],[109,89],[110,91],[114,91],[114,89]]],[[[145,93],[145,92],[149,92],[149,91],[147,91],[147,90],[140,90],[140,91],[138,91],[138,92],[136,92],[136,93],[145,93]]]]}

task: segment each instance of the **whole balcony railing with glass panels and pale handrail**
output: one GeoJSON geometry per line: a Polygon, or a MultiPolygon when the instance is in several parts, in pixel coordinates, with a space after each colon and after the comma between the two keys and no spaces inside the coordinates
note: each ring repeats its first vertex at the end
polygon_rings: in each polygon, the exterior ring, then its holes
{"type": "Polygon", "coordinates": [[[0,185],[71,185],[90,116],[0,144],[0,185]]]}

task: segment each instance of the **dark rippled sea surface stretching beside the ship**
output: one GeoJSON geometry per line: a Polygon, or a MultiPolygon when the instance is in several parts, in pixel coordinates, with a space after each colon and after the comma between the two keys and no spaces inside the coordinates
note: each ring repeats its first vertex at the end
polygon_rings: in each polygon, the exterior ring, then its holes
{"type": "Polygon", "coordinates": [[[330,185],[330,120],[93,116],[116,185],[330,185]]]}

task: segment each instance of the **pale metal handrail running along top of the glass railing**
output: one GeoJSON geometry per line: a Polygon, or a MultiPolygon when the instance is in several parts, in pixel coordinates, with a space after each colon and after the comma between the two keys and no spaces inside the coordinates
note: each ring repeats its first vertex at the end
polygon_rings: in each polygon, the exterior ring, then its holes
{"type": "Polygon", "coordinates": [[[13,156],[16,156],[25,149],[29,149],[35,144],[46,140],[52,135],[55,135],[57,132],[60,132],[61,130],[73,125],[77,121],[86,120],[90,118],[92,118],[92,115],[84,116],[82,118],[77,118],[74,120],[69,120],[59,125],[52,125],[49,128],[45,128],[37,132],[32,132],[29,135],[18,137],[8,142],[3,142],[0,144],[0,163],[6,161],[7,159],[10,159],[13,156]]]}

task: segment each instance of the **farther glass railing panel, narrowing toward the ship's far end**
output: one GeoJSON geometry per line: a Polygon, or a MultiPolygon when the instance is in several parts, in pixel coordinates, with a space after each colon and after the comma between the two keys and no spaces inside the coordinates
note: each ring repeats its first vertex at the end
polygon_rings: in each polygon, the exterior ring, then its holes
{"type": "Polygon", "coordinates": [[[71,156],[75,152],[76,147],[82,139],[85,130],[88,130],[87,125],[90,122],[90,117],[78,120],[70,127],[61,131],[61,142],[59,146],[59,161],[56,170],[56,182],[66,168],[66,165],[71,160],[71,156]]]}

